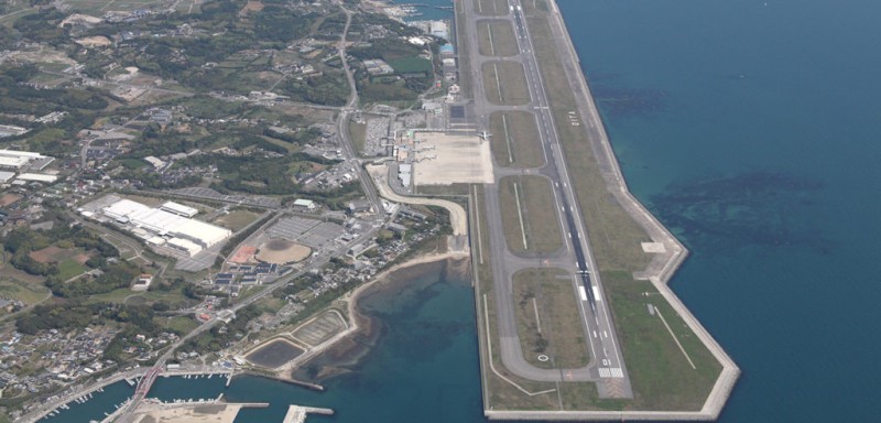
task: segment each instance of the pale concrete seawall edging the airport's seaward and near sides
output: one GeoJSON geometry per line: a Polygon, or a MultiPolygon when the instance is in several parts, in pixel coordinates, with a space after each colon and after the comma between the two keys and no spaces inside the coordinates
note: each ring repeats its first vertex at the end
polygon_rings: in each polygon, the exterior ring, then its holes
{"type": "Polygon", "coordinates": [[[664,246],[664,251],[656,253],[646,269],[642,272],[634,273],[634,278],[652,282],[662,296],[697,335],[700,341],[710,350],[722,366],[722,370],[700,411],[532,412],[485,410],[485,415],[490,420],[716,420],[721,413],[740,376],[740,368],[668,286],[673,274],[675,274],[676,270],[678,270],[679,265],[682,265],[685,258],[688,256],[688,250],[628,188],[626,178],[621,173],[618,160],[599,116],[588,82],[580,68],[580,59],[578,58],[559,7],[556,0],[548,0],[548,4],[551,8],[548,12],[548,23],[552,34],[555,40],[565,43],[565,51],[558,52],[561,62],[570,80],[577,82],[577,86],[573,87],[576,94],[575,99],[578,105],[577,112],[580,115],[583,121],[592,122],[600,134],[598,139],[591,139],[591,149],[597,156],[598,165],[609,187],[609,192],[614,196],[616,200],[621,204],[628,215],[643,227],[652,241],[664,246]]]}

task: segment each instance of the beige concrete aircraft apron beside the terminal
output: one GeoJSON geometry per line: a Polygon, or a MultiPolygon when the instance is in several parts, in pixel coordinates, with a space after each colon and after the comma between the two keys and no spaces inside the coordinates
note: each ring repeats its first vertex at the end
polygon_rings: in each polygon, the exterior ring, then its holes
{"type": "Polygon", "coordinates": [[[422,160],[413,165],[416,185],[492,182],[489,142],[479,137],[447,135],[439,132],[417,132],[416,139],[423,141],[423,147],[435,148],[420,153],[422,160]],[[434,159],[427,159],[432,156],[434,159]]]}

